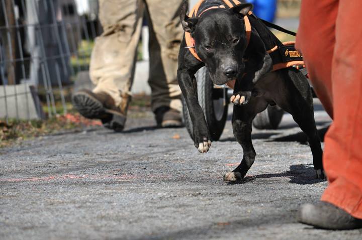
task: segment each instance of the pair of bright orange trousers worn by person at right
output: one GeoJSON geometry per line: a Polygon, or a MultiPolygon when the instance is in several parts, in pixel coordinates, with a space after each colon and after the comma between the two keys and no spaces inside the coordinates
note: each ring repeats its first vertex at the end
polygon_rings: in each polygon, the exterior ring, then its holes
{"type": "Polygon", "coordinates": [[[333,118],[324,138],[321,200],[362,218],[361,0],[303,0],[297,49],[333,118]]]}

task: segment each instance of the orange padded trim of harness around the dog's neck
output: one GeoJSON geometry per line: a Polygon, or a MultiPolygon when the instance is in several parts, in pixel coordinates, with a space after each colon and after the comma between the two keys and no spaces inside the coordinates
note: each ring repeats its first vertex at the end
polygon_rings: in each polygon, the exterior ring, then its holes
{"type": "MultiPolygon", "coordinates": [[[[219,9],[219,8],[225,8],[224,5],[220,5],[220,6],[213,6],[210,7],[208,9],[205,9],[204,11],[202,11],[200,14],[198,13],[199,8],[201,6],[201,4],[204,2],[205,0],[200,0],[195,7],[191,10],[189,17],[200,17],[202,14],[204,14],[206,11],[209,11],[211,9],[219,9]]],[[[239,1],[237,0],[230,0],[234,3],[234,5],[239,5],[241,4],[239,1]]],[[[229,0],[223,0],[223,2],[229,7],[232,8],[234,7],[234,5],[230,2],[229,0]]],[[[251,11],[248,13],[248,15],[251,15],[251,11]]],[[[245,22],[245,31],[246,31],[246,47],[249,45],[250,42],[250,36],[251,36],[251,24],[249,21],[249,17],[248,16],[244,16],[244,22],[245,22]]],[[[196,51],[195,51],[195,40],[194,38],[191,36],[191,34],[189,32],[185,32],[185,41],[186,41],[186,47],[187,49],[189,49],[189,51],[191,52],[191,54],[199,61],[202,62],[202,60],[200,59],[200,57],[197,55],[196,51]]]]}

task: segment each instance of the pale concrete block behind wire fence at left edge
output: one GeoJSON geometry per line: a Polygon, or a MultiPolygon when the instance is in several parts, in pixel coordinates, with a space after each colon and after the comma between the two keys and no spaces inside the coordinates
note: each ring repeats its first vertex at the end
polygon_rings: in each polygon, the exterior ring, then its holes
{"type": "Polygon", "coordinates": [[[45,118],[36,88],[29,84],[0,86],[0,118],[45,118]]]}

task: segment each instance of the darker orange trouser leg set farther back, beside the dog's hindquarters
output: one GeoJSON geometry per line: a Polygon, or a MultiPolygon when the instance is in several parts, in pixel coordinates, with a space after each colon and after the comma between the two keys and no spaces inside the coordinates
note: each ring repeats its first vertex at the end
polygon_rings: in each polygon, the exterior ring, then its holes
{"type": "Polygon", "coordinates": [[[303,0],[296,48],[304,57],[313,88],[333,117],[331,65],[338,0],[303,0]]]}

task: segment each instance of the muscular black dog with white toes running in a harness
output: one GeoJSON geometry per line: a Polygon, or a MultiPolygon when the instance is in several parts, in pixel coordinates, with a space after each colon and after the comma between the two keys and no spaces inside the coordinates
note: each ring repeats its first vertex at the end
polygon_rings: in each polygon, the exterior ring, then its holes
{"type": "MultiPolygon", "coordinates": [[[[231,2],[231,1],[230,1],[231,2]]],[[[258,112],[268,104],[278,105],[293,115],[294,120],[304,133],[313,154],[313,164],[318,178],[324,178],[322,166],[322,148],[314,120],[313,96],[308,80],[293,67],[272,72],[273,61],[266,49],[275,47],[271,40],[261,39],[265,26],[258,31],[257,24],[250,19],[251,36],[248,43],[244,16],[252,10],[251,4],[240,4],[232,8],[224,1],[206,0],[209,8],[203,5],[199,9],[201,16],[186,15],[188,2],[184,1],[180,9],[180,19],[185,32],[191,33],[195,43],[198,60],[187,46],[181,44],[178,56],[177,79],[183,92],[190,117],[194,126],[195,147],[206,153],[210,146],[210,133],[202,108],[198,103],[195,73],[205,66],[214,84],[225,84],[236,80],[232,127],[237,142],[243,149],[240,165],[224,175],[225,181],[243,179],[255,159],[255,150],[251,143],[251,124],[258,112]]]]}

